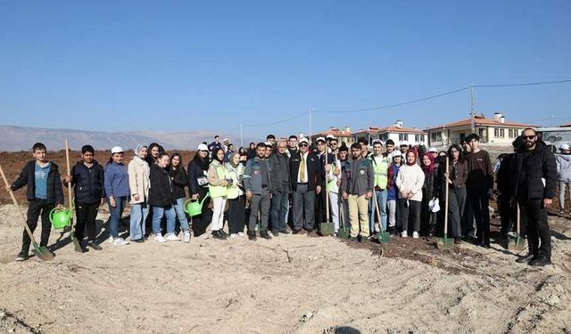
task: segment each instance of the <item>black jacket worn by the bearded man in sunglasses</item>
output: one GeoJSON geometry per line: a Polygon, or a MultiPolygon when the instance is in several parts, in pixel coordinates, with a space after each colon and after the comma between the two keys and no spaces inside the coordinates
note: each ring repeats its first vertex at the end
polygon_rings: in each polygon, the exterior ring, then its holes
{"type": "Polygon", "coordinates": [[[517,151],[515,159],[517,166],[515,196],[525,200],[552,199],[557,184],[557,165],[555,156],[547,145],[538,141],[534,151],[521,149],[517,151]],[[526,193],[523,193],[521,184],[526,185],[526,193]]]}

